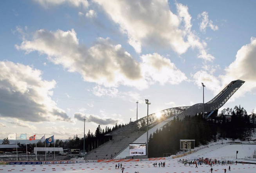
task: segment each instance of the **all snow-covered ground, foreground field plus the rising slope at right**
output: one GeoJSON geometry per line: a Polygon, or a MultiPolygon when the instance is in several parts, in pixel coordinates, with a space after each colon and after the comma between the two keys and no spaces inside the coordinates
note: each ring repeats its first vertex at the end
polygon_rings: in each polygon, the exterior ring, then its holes
{"type": "MultiPolygon", "coordinates": [[[[252,155],[256,145],[216,145],[209,148],[205,148],[191,155],[184,156],[184,159],[194,159],[198,157],[224,157],[236,155],[238,151],[238,158],[243,158],[245,156],[252,155]]],[[[157,160],[159,162],[166,162],[166,167],[153,167],[154,161],[139,161],[139,162],[122,162],[124,173],[134,173],[139,171],[140,173],[209,173],[210,167],[207,165],[198,165],[198,168],[193,166],[184,166],[184,164],[177,162],[177,160],[183,159],[169,159],[169,160],[157,160]]],[[[230,159],[229,159],[230,160],[230,159]]],[[[239,160],[246,161],[246,160],[239,160]]],[[[22,171],[23,173],[39,173],[45,171],[49,173],[54,171],[55,173],[120,173],[121,169],[115,169],[116,162],[109,163],[78,163],[78,164],[52,164],[52,165],[0,165],[0,173],[7,173],[9,171],[18,173],[22,171]]],[[[213,172],[224,173],[224,169],[227,169],[228,165],[215,165],[213,166],[213,172]]],[[[255,164],[232,164],[232,173],[255,173],[255,164]]]]}

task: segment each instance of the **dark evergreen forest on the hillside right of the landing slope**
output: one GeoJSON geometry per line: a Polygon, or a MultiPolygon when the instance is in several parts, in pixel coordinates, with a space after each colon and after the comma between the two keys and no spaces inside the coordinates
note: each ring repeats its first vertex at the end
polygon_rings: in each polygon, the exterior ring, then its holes
{"type": "Polygon", "coordinates": [[[241,106],[226,108],[212,119],[202,114],[186,116],[183,120],[174,117],[162,129],[150,134],[149,157],[162,157],[164,153],[175,154],[180,150],[180,139],[195,139],[195,146],[206,145],[222,139],[251,141],[256,127],[254,110],[248,115],[241,106]]]}

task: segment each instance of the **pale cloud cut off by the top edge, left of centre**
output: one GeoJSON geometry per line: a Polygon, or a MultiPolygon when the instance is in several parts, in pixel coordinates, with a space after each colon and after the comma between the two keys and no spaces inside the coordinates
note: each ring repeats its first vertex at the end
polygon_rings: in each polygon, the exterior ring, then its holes
{"type": "Polygon", "coordinates": [[[42,5],[45,8],[62,5],[62,4],[69,4],[73,7],[81,6],[85,9],[89,6],[89,3],[87,0],[34,0],[34,1],[38,2],[40,5],[42,5]]]}

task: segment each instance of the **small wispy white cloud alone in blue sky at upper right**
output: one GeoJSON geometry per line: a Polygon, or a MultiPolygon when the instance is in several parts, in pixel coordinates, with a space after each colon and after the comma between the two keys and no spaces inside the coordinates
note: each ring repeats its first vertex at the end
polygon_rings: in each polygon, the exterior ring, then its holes
{"type": "Polygon", "coordinates": [[[206,27],[210,27],[213,31],[218,30],[217,25],[213,25],[213,21],[208,19],[208,13],[204,11],[201,14],[198,14],[197,18],[200,19],[202,18],[202,21],[200,23],[200,31],[206,32],[206,27]]]}

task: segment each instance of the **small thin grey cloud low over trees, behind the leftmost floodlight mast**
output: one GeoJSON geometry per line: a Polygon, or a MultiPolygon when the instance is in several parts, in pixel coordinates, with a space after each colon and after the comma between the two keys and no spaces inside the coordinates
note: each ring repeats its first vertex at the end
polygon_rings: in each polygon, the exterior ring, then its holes
{"type": "MultiPolygon", "coordinates": [[[[74,114],[74,118],[78,119],[79,121],[83,121],[83,116],[84,114],[82,113],[75,113],[74,114]]],[[[87,120],[86,122],[88,123],[95,123],[95,124],[100,124],[100,125],[108,125],[108,124],[115,124],[118,123],[119,120],[117,119],[112,119],[112,118],[101,118],[97,115],[93,115],[93,114],[86,114],[87,116],[87,120]]]]}

